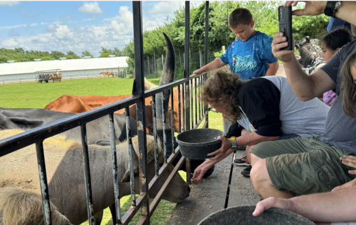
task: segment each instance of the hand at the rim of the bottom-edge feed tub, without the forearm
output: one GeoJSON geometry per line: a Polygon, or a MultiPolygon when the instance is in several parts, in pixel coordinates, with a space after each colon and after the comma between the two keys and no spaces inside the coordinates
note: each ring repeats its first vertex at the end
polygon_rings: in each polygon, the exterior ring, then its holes
{"type": "Polygon", "coordinates": [[[256,205],[256,208],[255,208],[255,211],[253,211],[252,215],[259,216],[265,210],[270,209],[272,207],[287,209],[289,211],[296,210],[294,202],[292,202],[291,200],[271,197],[271,198],[266,198],[265,200],[262,200],[261,202],[258,202],[256,205]]]}

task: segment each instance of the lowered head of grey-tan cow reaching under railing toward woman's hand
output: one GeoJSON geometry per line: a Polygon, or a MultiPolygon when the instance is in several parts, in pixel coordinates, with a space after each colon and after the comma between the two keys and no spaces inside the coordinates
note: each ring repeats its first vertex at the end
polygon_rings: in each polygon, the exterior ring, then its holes
{"type": "MultiPolygon", "coordinates": [[[[138,160],[138,138],[133,137],[132,138],[133,145],[131,148],[132,150],[132,155],[133,155],[133,172],[135,174],[135,191],[136,194],[140,193],[140,169],[139,169],[139,160],[138,160]]],[[[158,153],[158,165],[159,168],[164,163],[164,155],[163,155],[163,150],[160,145],[160,142],[158,142],[157,145],[157,153],[158,153]]],[[[147,135],[147,182],[150,182],[152,178],[155,176],[155,152],[154,152],[154,140],[153,136],[147,135]]],[[[151,190],[150,190],[150,198],[154,198],[158,191],[160,191],[162,185],[164,185],[164,182],[170,175],[170,173],[173,171],[173,166],[170,165],[162,174],[160,174],[160,179],[151,190]]],[[[130,182],[130,170],[129,166],[127,166],[127,170],[123,176],[123,179],[121,180],[121,183],[127,183],[130,182]]],[[[162,198],[164,200],[168,200],[170,202],[181,202],[184,199],[188,198],[190,194],[190,187],[189,185],[183,181],[183,178],[177,174],[175,178],[173,178],[173,181],[170,182],[168,187],[166,187],[166,191],[164,191],[164,194],[162,195],[162,198]]]]}

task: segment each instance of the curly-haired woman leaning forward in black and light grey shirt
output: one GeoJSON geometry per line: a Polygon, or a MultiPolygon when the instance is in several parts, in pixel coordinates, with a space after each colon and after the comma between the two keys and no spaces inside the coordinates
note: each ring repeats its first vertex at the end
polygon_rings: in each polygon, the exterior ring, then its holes
{"type": "MultiPolygon", "coordinates": [[[[222,147],[196,168],[192,181],[199,181],[209,168],[233,152],[229,137],[236,136],[236,144],[246,146],[246,159],[238,166],[249,166],[250,151],[259,142],[320,135],[330,108],[318,98],[299,101],[285,77],[242,81],[238,75],[222,71],[207,80],[202,98],[213,111],[235,124],[226,137],[218,137],[222,147]]],[[[242,174],[249,176],[250,170],[251,166],[242,174]]]]}

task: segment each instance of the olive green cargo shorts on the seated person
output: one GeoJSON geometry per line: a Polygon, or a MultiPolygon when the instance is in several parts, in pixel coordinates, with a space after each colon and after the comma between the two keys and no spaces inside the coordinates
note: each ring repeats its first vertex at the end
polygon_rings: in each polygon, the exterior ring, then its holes
{"type": "Polygon", "coordinates": [[[355,169],[340,160],[343,155],[354,154],[319,142],[319,137],[261,142],[251,153],[266,159],[272,184],[288,194],[331,191],[356,177],[348,173],[355,169]]]}

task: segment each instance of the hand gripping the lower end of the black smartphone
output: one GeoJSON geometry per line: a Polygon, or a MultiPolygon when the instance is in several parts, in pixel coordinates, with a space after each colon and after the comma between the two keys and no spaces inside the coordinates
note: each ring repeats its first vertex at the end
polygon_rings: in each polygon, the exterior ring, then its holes
{"type": "Polygon", "coordinates": [[[275,57],[282,62],[290,62],[293,58],[295,58],[294,55],[294,37],[293,37],[293,49],[292,50],[281,50],[284,47],[288,46],[287,38],[283,36],[282,32],[277,32],[273,38],[271,47],[272,47],[272,53],[275,55],[275,57]]]}

